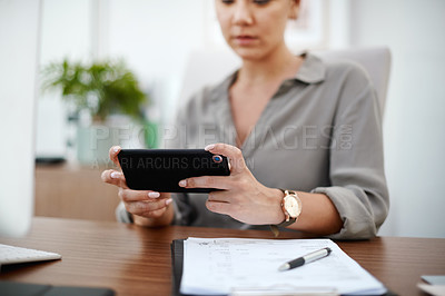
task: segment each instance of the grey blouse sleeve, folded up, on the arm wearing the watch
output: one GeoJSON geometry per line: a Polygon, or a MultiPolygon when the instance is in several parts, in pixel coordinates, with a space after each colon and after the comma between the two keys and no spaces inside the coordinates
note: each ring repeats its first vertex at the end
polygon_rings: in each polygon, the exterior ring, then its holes
{"type": "Polygon", "coordinates": [[[332,135],[332,186],[313,193],[327,195],[343,221],[336,239],[376,236],[389,207],[383,156],[382,115],[370,80],[350,67],[338,101],[332,135]]]}

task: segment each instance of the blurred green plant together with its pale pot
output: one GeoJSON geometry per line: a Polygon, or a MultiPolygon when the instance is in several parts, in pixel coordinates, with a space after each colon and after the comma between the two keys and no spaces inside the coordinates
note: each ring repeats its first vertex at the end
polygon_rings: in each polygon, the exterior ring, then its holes
{"type": "Polygon", "coordinates": [[[60,89],[62,98],[73,107],[70,118],[78,122],[77,158],[80,162],[107,162],[110,146],[128,140],[135,134],[135,126],[142,127],[136,134],[144,138],[147,120],[142,109],[148,96],[123,61],[83,65],[65,59],[44,67],[42,75],[43,90],[60,89]],[[89,120],[79,120],[82,114],[89,120]]]}

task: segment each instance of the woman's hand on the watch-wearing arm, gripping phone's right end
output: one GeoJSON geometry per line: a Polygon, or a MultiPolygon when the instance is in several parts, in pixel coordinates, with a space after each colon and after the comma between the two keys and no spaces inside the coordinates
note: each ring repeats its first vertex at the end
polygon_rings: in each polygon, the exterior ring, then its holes
{"type": "Polygon", "coordinates": [[[227,144],[205,148],[214,155],[229,159],[230,176],[202,176],[181,180],[185,188],[217,188],[211,191],[206,206],[209,210],[226,214],[250,225],[279,224],[285,219],[281,210],[283,193],[260,184],[250,172],[241,150],[227,144]]]}

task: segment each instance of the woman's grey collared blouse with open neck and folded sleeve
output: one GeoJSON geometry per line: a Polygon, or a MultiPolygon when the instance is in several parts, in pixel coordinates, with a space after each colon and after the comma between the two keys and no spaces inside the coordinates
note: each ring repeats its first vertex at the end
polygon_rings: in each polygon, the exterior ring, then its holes
{"type": "MultiPolygon", "coordinates": [[[[179,109],[176,125],[164,131],[165,147],[235,145],[228,91],[236,75],[202,89],[179,109]]],[[[295,78],[269,100],[241,150],[265,186],[326,194],[344,221],[332,238],[373,237],[387,216],[382,115],[374,87],[356,63],[326,63],[307,55],[295,78]]],[[[206,199],[202,194],[175,194],[175,224],[268,229],[211,213],[206,199]]]]}

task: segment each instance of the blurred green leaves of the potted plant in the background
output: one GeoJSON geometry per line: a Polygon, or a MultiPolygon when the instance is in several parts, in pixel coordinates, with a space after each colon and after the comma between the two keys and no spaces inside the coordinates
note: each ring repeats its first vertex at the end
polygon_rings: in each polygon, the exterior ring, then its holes
{"type": "Polygon", "coordinates": [[[105,120],[111,114],[125,114],[144,120],[141,108],[148,96],[123,61],[50,63],[42,70],[43,90],[61,89],[63,99],[78,110],[88,109],[93,118],[105,120]]]}

